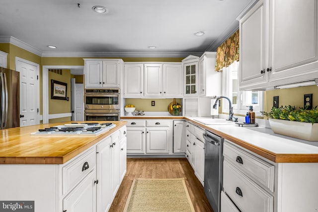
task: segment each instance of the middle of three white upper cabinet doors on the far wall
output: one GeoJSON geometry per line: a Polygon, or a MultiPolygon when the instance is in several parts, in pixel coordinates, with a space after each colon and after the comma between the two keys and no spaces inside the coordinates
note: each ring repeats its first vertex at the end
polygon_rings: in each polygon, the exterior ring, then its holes
{"type": "Polygon", "coordinates": [[[144,97],[160,98],[163,95],[162,65],[144,65],[144,97]]]}

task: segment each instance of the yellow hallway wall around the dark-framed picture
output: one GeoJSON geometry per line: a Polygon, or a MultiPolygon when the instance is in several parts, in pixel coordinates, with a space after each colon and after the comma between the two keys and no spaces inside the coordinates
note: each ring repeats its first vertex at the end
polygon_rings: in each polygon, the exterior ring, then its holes
{"type": "Polygon", "coordinates": [[[67,97],[71,98],[71,71],[63,70],[62,73],[49,71],[49,114],[71,113],[71,101],[51,99],[51,79],[67,83],[67,97]]]}

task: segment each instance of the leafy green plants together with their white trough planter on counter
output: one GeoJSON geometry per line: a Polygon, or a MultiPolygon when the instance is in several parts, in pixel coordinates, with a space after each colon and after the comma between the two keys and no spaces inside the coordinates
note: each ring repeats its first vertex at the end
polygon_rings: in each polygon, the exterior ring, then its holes
{"type": "Polygon", "coordinates": [[[270,112],[262,111],[269,117],[274,133],[307,141],[318,141],[318,109],[297,109],[295,106],[272,107],[270,112]]]}

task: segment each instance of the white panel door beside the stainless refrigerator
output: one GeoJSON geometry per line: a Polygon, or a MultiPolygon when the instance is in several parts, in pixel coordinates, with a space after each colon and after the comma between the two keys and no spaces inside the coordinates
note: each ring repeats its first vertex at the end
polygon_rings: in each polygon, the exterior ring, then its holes
{"type": "Polygon", "coordinates": [[[20,72],[20,127],[40,124],[38,70],[37,64],[16,59],[16,71],[20,72]]]}

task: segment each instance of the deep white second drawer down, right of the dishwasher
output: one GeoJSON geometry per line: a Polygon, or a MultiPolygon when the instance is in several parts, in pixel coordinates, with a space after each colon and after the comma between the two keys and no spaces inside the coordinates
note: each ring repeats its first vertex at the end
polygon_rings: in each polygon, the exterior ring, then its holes
{"type": "Polygon", "coordinates": [[[224,160],[223,187],[243,212],[273,212],[274,198],[224,160]]]}

